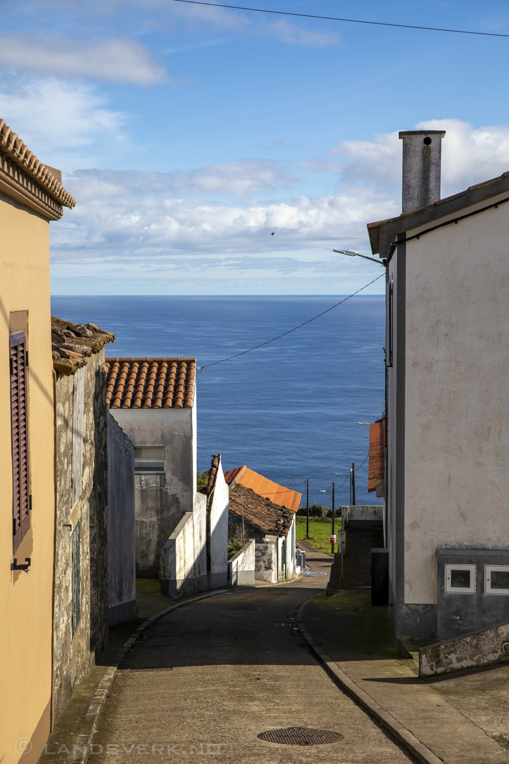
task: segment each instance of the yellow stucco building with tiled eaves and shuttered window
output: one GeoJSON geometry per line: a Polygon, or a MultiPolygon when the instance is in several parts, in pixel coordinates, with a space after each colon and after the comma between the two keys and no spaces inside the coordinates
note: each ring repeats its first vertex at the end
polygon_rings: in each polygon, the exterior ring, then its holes
{"type": "Polygon", "coordinates": [[[0,760],[50,733],[55,522],[50,220],[74,199],[0,120],[0,760]],[[24,570],[24,568],[27,568],[24,570]]]}

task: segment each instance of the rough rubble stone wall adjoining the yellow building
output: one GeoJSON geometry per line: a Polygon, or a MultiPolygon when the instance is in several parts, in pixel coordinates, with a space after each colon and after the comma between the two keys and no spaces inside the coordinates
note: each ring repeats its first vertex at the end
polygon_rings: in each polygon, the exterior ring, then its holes
{"type": "Polygon", "coordinates": [[[56,516],[53,592],[53,719],[108,637],[105,353],[84,369],[82,494],[72,506],[72,397],[75,377],[56,374],[56,516]],[[72,533],[79,524],[79,622],[72,634],[72,533]]]}

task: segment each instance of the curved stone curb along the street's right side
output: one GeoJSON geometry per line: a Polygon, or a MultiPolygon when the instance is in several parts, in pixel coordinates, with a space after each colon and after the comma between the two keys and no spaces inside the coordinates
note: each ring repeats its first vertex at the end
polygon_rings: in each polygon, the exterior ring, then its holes
{"type": "Polygon", "coordinates": [[[333,659],[327,655],[327,652],[321,649],[321,646],[316,642],[316,640],[313,639],[311,634],[302,623],[302,613],[308,602],[311,602],[311,600],[317,596],[317,594],[313,594],[312,597],[309,597],[308,600],[303,602],[301,607],[298,608],[296,617],[298,630],[301,633],[301,636],[304,637],[308,645],[311,647],[314,654],[321,660],[322,663],[324,663],[327,671],[333,675],[333,678],[336,679],[341,688],[343,688],[343,690],[355,698],[355,700],[363,708],[365,708],[369,714],[374,716],[375,719],[378,720],[380,724],[383,725],[383,727],[385,727],[385,729],[389,730],[389,732],[395,736],[396,740],[398,740],[399,743],[401,743],[406,749],[408,749],[408,751],[410,751],[413,756],[415,756],[417,761],[421,762],[421,764],[443,764],[442,759],[439,759],[438,756],[435,756],[435,754],[430,751],[430,749],[427,748],[424,743],[421,743],[420,740],[417,740],[417,737],[414,736],[409,730],[407,730],[407,728],[404,727],[401,722],[398,722],[398,720],[391,716],[388,711],[385,711],[385,708],[382,708],[381,705],[370,698],[369,694],[359,688],[359,685],[356,685],[356,683],[340,669],[340,667],[333,661],[333,659]]]}

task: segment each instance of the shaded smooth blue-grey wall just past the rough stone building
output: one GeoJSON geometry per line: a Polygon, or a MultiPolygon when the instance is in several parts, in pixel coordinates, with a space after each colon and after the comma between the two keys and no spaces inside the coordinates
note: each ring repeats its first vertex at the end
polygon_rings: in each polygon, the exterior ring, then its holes
{"type": "Polygon", "coordinates": [[[134,616],[134,445],[108,414],[108,625],[134,616]]]}

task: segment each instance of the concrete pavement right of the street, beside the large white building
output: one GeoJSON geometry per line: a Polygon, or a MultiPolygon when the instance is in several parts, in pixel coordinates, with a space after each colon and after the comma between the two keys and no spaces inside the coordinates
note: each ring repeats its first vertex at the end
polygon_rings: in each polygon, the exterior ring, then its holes
{"type": "MultiPolygon", "coordinates": [[[[387,608],[371,607],[369,589],[311,601],[306,630],[341,672],[446,764],[507,764],[509,666],[434,679],[395,652],[387,608]]],[[[434,756],[433,756],[434,754],[434,756]]]]}

